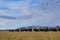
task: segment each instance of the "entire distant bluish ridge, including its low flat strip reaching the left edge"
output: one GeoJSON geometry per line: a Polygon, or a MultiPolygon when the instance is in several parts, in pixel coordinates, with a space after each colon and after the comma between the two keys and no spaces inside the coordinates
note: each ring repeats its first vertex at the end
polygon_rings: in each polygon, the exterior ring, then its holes
{"type": "Polygon", "coordinates": [[[6,29],[6,30],[0,30],[0,31],[8,31],[8,30],[21,30],[21,29],[35,29],[35,28],[40,28],[40,29],[55,29],[55,28],[60,28],[60,26],[56,27],[48,27],[48,26],[27,26],[27,27],[21,27],[21,28],[16,28],[16,29],[6,29]]]}

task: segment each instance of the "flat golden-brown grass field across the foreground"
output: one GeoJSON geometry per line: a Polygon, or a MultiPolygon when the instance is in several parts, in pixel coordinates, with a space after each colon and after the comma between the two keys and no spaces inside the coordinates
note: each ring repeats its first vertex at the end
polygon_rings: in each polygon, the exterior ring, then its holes
{"type": "Polygon", "coordinates": [[[60,32],[0,32],[0,40],[60,40],[60,32]]]}

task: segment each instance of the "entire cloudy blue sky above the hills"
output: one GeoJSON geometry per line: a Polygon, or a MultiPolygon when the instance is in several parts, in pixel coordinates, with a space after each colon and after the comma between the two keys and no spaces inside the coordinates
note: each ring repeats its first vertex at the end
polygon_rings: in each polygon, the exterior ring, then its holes
{"type": "Polygon", "coordinates": [[[60,26],[60,0],[0,0],[0,30],[60,26]]]}

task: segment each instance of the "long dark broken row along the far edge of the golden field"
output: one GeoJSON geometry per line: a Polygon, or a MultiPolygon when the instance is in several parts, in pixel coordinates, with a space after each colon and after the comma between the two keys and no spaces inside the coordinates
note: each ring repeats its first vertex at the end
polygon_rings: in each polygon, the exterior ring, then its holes
{"type": "Polygon", "coordinates": [[[9,32],[14,32],[14,31],[17,31],[17,32],[32,32],[32,31],[35,31],[35,32],[40,32],[40,31],[45,31],[45,32],[48,32],[48,31],[60,31],[60,28],[59,26],[57,27],[45,27],[45,28],[34,28],[34,29],[30,29],[30,28],[23,28],[23,29],[15,29],[15,30],[9,30],[9,32]]]}

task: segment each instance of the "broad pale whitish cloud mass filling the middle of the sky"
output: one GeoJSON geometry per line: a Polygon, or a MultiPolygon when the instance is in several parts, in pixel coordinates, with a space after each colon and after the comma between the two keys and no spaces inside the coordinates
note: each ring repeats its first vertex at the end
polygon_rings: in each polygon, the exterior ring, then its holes
{"type": "Polygon", "coordinates": [[[37,3],[29,5],[31,0],[22,2],[7,2],[4,10],[0,10],[0,15],[14,16],[17,20],[1,19],[1,28],[17,28],[31,25],[47,25],[49,23],[60,25],[59,20],[54,20],[57,12],[42,10],[37,3]],[[26,3],[26,2],[27,3],[26,3]],[[31,8],[30,8],[31,7],[31,8]],[[57,22],[58,21],[58,22],[57,22]],[[11,26],[10,26],[11,25],[11,26]]]}

